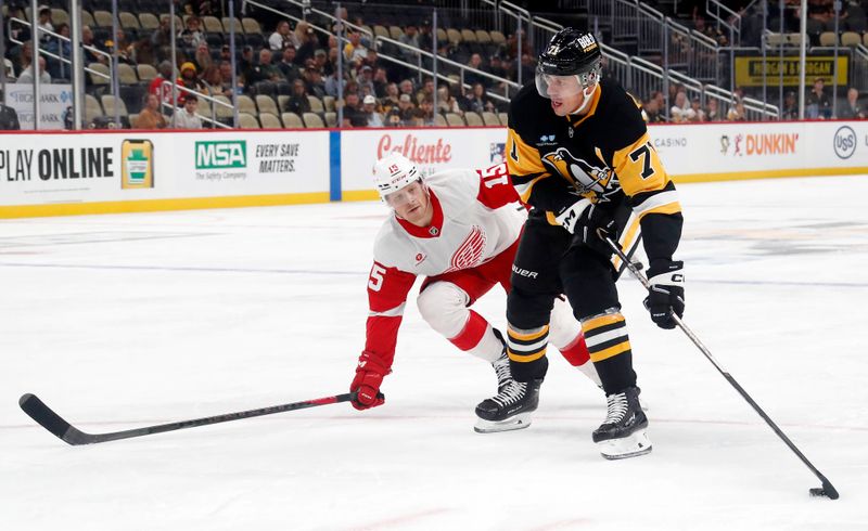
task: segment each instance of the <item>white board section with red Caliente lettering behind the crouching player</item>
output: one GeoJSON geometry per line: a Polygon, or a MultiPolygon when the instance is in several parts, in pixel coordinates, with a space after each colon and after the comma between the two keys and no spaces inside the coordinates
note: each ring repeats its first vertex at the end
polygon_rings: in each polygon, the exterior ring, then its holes
{"type": "Polygon", "coordinates": [[[341,132],[341,182],[344,198],[374,199],[373,164],[398,152],[424,174],[450,168],[487,168],[503,161],[507,130],[370,129],[341,132]]]}

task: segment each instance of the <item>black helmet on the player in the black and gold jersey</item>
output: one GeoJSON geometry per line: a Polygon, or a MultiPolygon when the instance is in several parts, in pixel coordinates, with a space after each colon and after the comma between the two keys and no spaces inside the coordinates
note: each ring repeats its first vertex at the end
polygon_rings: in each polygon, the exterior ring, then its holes
{"type": "Polygon", "coordinates": [[[546,95],[546,76],[576,76],[580,87],[586,89],[599,81],[601,74],[602,53],[593,34],[563,28],[539,54],[537,90],[546,95]]]}

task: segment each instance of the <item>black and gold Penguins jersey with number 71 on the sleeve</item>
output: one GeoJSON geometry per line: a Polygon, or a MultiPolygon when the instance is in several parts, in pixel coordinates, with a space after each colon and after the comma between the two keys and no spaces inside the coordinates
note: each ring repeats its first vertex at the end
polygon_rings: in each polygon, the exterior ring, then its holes
{"type": "Polygon", "coordinates": [[[610,80],[589,98],[587,114],[561,117],[534,83],[519,91],[510,104],[507,140],[513,186],[551,223],[579,196],[601,208],[630,208],[649,259],[672,259],[681,207],[636,102],[610,80]]]}

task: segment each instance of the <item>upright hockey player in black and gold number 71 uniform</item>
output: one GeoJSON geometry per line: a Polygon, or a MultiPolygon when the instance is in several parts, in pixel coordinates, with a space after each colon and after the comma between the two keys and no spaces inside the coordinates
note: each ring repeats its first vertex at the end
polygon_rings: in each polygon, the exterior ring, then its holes
{"type": "Polygon", "coordinates": [[[513,264],[508,353],[516,380],[541,381],[548,316],[565,294],[607,393],[593,442],[604,457],[623,458],[650,452],[651,442],[617,272],[598,229],[624,243],[641,228],[652,283],[646,307],[654,323],[673,328],[673,313],[685,307],[682,263],[673,260],[682,218],[639,109],[616,82],[600,79],[601,59],[593,35],[563,29],[540,54],[535,85],[510,104],[510,179],[533,209],[513,264]]]}

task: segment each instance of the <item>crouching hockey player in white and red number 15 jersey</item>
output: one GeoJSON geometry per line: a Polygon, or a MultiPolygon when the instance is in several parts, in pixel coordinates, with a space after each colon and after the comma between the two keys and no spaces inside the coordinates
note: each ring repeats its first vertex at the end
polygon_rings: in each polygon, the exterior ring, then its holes
{"type": "MultiPolygon", "coordinates": [[[[470,309],[496,284],[510,289],[526,211],[509,183],[507,165],[447,170],[423,179],[408,158],[391,154],[374,165],[373,178],[394,215],[374,244],[365,350],[350,384],[356,392],[353,405],[365,410],[384,402],[380,386],[392,368],[407,294],[416,277],[424,275],[417,298],[422,318],[460,350],[490,363],[497,375],[498,392],[476,406],[474,429],[494,432],[529,426],[539,383],[512,379],[501,334],[470,309]]],[[[599,386],[582,327],[565,302],[554,305],[550,339],[599,386]]]]}

